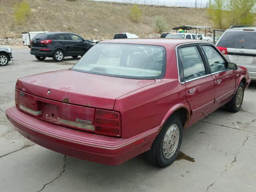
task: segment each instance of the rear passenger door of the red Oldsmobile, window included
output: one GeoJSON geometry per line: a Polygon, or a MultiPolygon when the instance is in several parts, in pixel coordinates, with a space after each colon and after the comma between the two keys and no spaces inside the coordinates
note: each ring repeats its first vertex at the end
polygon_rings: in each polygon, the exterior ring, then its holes
{"type": "Polygon", "coordinates": [[[214,104],[214,81],[198,44],[178,48],[180,81],[186,85],[186,99],[192,110],[189,126],[209,114],[214,104]]]}

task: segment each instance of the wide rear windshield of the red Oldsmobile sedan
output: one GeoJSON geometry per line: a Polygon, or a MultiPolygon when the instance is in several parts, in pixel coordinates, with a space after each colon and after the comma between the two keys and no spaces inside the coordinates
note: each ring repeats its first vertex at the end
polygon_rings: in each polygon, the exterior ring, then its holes
{"type": "Polygon", "coordinates": [[[93,46],[72,70],[135,79],[164,76],[166,52],[161,46],[100,43],[93,46]]]}

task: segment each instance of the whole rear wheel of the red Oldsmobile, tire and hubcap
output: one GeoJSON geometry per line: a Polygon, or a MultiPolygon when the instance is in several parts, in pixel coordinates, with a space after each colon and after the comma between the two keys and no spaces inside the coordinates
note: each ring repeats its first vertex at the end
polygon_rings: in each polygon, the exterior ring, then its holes
{"type": "Polygon", "coordinates": [[[150,150],[145,152],[146,159],[154,166],[164,168],[174,162],[182,142],[182,122],[172,116],[162,127],[150,150]]]}

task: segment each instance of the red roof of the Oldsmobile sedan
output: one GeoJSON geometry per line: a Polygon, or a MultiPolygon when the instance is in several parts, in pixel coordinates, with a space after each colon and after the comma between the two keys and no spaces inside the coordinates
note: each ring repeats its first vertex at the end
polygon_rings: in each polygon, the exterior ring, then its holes
{"type": "MultiPolygon", "coordinates": [[[[101,43],[123,43],[123,44],[143,44],[143,45],[157,45],[163,47],[175,47],[180,44],[186,43],[204,43],[206,41],[201,40],[189,40],[189,39],[168,39],[168,38],[131,38],[131,39],[113,39],[113,40],[104,40],[99,42],[101,43]]],[[[209,43],[209,42],[208,42],[209,43]]]]}

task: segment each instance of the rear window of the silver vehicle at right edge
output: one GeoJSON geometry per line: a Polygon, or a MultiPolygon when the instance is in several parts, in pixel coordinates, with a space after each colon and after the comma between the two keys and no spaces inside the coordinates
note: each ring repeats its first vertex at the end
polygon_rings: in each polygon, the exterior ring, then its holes
{"type": "Polygon", "coordinates": [[[256,49],[255,31],[227,31],[220,38],[217,46],[240,49],[256,49]]]}

